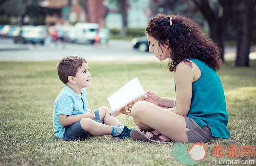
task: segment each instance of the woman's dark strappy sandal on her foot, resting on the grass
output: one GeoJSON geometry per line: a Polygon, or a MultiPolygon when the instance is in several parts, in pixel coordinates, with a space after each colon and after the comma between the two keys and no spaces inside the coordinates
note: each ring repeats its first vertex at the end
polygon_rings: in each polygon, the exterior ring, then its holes
{"type": "Polygon", "coordinates": [[[130,136],[133,140],[136,141],[145,141],[145,142],[155,142],[155,143],[170,143],[171,140],[158,131],[143,131],[143,130],[131,130],[130,136]]]}

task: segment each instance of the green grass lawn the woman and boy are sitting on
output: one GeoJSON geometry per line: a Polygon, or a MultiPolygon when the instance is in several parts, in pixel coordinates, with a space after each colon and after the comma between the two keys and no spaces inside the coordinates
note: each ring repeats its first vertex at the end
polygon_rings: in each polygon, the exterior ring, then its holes
{"type": "MultiPolygon", "coordinates": [[[[0,166],[10,165],[181,165],[173,156],[171,144],[135,142],[131,138],[90,137],[86,141],[66,142],[53,135],[54,101],[64,84],[54,62],[0,62],[0,166]]],[[[250,68],[235,68],[228,61],[218,71],[229,114],[229,139],[205,143],[207,155],[198,165],[211,166],[214,160],[253,160],[241,157],[240,146],[256,148],[256,60],[250,68]],[[216,158],[213,145],[237,144],[240,157],[216,158]]],[[[107,97],[131,79],[138,77],[145,90],[160,96],[175,97],[174,74],[167,63],[89,62],[92,74],[87,88],[89,108],[109,107],[107,97]]],[[[132,117],[118,119],[135,126],[132,117]]],[[[186,143],[189,148],[192,143],[186,143]]]]}

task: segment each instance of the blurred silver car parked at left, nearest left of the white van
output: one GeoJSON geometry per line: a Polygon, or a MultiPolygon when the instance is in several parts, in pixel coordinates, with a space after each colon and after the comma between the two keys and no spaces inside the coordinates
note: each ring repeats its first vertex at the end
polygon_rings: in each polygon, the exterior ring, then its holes
{"type": "Polygon", "coordinates": [[[43,27],[22,26],[20,34],[14,37],[14,43],[40,43],[44,44],[47,37],[47,31],[43,27]]]}

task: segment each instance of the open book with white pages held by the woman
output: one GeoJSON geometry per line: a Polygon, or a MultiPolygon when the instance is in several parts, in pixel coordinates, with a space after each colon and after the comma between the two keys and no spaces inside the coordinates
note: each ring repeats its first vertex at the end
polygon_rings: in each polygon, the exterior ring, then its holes
{"type": "Polygon", "coordinates": [[[144,95],[144,93],[145,91],[139,83],[138,78],[136,77],[132,79],[117,92],[108,97],[108,101],[112,110],[110,115],[118,116],[121,114],[120,111],[127,111],[127,106],[129,104],[134,104],[141,100],[143,97],[147,97],[144,95]]]}

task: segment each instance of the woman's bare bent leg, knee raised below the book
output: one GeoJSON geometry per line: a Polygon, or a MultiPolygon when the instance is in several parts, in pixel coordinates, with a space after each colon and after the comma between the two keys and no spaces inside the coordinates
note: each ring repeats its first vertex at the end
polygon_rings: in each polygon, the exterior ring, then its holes
{"type": "Polygon", "coordinates": [[[186,122],[183,116],[167,111],[146,101],[136,102],[131,114],[137,126],[145,131],[157,130],[172,141],[188,142],[186,122]]]}

